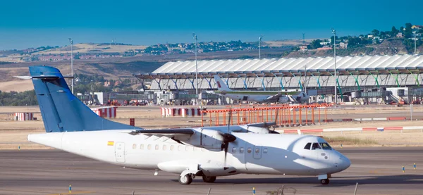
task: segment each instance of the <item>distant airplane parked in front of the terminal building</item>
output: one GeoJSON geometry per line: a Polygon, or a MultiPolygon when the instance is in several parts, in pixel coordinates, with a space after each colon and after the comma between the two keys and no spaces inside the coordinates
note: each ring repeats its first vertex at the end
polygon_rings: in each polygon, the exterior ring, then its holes
{"type": "Polygon", "coordinates": [[[305,92],[286,91],[286,92],[271,92],[271,91],[235,91],[226,85],[219,75],[213,75],[218,91],[207,91],[209,94],[219,94],[233,100],[239,101],[256,101],[259,103],[288,103],[288,101],[295,101],[296,103],[305,103],[309,96],[305,92]]]}

